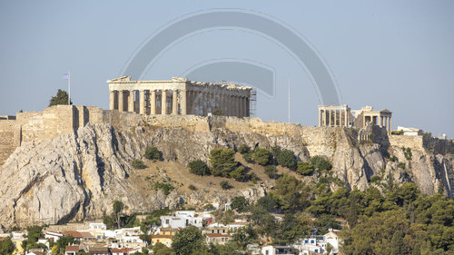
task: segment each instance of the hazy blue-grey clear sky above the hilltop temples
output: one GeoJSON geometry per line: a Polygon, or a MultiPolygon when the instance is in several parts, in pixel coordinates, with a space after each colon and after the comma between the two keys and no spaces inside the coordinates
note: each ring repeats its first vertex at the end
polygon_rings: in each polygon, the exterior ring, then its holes
{"type": "MultiPolygon", "coordinates": [[[[247,14],[244,26],[261,16],[279,29],[224,25],[182,33],[133,80],[170,80],[213,62],[262,66],[273,74],[272,88],[248,83],[258,90],[254,115],[278,122],[290,116],[291,123],[314,126],[317,105],[327,103],[316,76],[326,69],[335,88],[329,93],[338,103],[352,110],[388,109],[393,129],[416,127],[454,137],[454,2],[449,0],[2,1],[0,115],[42,111],[58,89],[67,90],[62,77],[68,71],[74,104],[107,109],[106,81],[128,75],[131,61],[162,38],[160,32],[214,13],[203,20],[210,26],[219,22],[217,12],[225,11],[247,14]],[[272,36],[284,30],[301,41],[290,45],[283,36],[272,36]],[[311,52],[296,54],[305,47],[311,52]],[[314,69],[317,61],[322,67],[314,69]]],[[[248,70],[246,78],[260,78],[248,70]]],[[[205,73],[206,79],[215,74],[217,81],[230,81],[227,70],[218,71],[205,73]]]]}

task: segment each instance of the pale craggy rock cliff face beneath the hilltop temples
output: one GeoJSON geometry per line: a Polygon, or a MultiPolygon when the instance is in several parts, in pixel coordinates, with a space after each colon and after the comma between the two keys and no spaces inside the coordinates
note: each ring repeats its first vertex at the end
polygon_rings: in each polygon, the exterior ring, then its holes
{"type": "MultiPolygon", "coordinates": [[[[183,201],[222,203],[239,194],[254,201],[271,186],[259,183],[214,195],[178,188],[167,196],[163,191],[144,193],[133,181],[136,173],[131,162],[141,158],[147,146],[158,147],[164,161],[179,162],[182,168],[195,159],[208,161],[216,146],[236,148],[245,143],[252,148],[269,148],[277,144],[295,152],[301,161],[314,155],[327,157],[334,176],[349,188],[365,189],[377,175],[383,182],[387,178],[414,181],[425,193],[442,191],[453,196],[451,154],[413,148],[409,157],[401,146],[360,141],[356,131],[341,127],[289,124],[282,128],[279,123],[242,120],[235,124],[228,119],[204,118],[207,127],[203,129],[156,124],[156,119],[125,128],[88,123],[50,140],[23,142],[0,167],[0,224],[10,228],[99,218],[111,213],[116,199],[122,200],[129,212],[174,207],[183,201]]],[[[388,141],[386,135],[382,140],[388,141]]],[[[380,181],[373,185],[380,187],[380,181]]]]}

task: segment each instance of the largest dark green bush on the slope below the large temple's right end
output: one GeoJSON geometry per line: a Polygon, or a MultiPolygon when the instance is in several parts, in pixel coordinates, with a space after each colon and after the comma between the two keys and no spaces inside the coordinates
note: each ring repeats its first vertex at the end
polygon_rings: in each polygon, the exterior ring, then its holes
{"type": "Polygon", "coordinates": [[[212,164],[212,174],[223,177],[229,176],[229,173],[238,166],[238,162],[235,162],[235,152],[232,149],[212,149],[210,163],[212,164]]]}

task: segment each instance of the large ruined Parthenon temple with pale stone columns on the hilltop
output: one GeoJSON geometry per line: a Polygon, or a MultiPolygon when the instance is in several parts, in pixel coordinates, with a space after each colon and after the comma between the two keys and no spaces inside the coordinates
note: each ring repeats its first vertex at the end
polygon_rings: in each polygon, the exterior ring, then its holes
{"type": "Polygon", "coordinates": [[[109,108],[140,114],[217,113],[249,117],[252,87],[236,84],[201,83],[185,78],[171,81],[131,81],[123,76],[109,83],[109,108]]]}

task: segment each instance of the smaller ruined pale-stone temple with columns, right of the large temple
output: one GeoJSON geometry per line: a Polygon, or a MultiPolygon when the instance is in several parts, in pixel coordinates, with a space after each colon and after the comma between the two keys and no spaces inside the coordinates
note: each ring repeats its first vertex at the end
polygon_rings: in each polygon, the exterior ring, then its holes
{"type": "Polygon", "coordinates": [[[366,128],[369,124],[385,128],[391,133],[391,115],[389,110],[373,111],[369,105],[360,110],[351,111],[347,104],[319,105],[319,126],[344,126],[366,128]]]}

